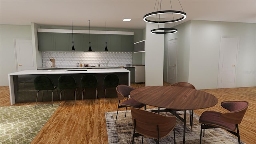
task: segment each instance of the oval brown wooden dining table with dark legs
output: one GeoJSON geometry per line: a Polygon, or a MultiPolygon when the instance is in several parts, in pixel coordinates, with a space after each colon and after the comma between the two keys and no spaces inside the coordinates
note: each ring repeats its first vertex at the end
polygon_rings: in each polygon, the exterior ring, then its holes
{"type": "Polygon", "coordinates": [[[209,108],[218,103],[218,99],[207,92],[180,86],[145,86],[130,92],[131,98],[167,110],[184,110],[184,119],[172,112],[184,122],[183,144],[185,144],[186,110],[209,108]]]}

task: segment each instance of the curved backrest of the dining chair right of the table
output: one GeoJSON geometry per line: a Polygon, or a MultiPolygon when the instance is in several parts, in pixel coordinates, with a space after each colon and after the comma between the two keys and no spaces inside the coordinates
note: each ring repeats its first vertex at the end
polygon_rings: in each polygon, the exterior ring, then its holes
{"type": "Polygon", "coordinates": [[[249,106],[246,101],[222,102],[221,106],[230,112],[220,115],[220,119],[231,124],[240,124],[249,106]]]}

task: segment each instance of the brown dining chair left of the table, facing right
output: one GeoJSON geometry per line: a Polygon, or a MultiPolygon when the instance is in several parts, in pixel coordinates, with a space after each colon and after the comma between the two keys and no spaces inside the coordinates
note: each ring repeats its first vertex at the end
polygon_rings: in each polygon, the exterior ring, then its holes
{"type": "Polygon", "coordinates": [[[130,92],[134,89],[135,88],[132,88],[132,87],[124,85],[124,84],[120,84],[116,87],[117,97],[118,97],[118,100],[119,100],[118,101],[118,107],[117,107],[117,113],[116,113],[116,120],[117,120],[117,114],[118,114],[119,108],[126,108],[125,117],[126,117],[127,107],[131,107],[131,108],[142,108],[142,107],[144,107],[145,110],[146,110],[146,104],[142,104],[140,102],[137,102],[136,100],[134,100],[132,98],[129,99],[130,92]],[[122,102],[120,104],[120,101],[123,100],[124,98],[127,98],[127,100],[125,100],[124,102],[122,102]]]}

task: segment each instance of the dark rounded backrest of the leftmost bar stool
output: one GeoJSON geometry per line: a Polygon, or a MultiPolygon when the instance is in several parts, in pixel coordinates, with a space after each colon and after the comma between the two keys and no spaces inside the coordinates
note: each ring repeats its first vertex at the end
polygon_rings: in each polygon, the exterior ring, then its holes
{"type": "Polygon", "coordinates": [[[34,88],[35,90],[53,90],[54,83],[47,76],[37,76],[34,80],[34,88]]]}

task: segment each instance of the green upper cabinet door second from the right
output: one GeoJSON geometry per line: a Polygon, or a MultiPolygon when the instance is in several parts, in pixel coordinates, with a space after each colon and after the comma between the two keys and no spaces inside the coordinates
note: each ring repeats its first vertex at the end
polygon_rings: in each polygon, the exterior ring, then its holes
{"type": "Polygon", "coordinates": [[[109,36],[110,40],[110,49],[109,51],[112,52],[122,52],[122,37],[121,35],[117,34],[110,34],[109,36]]]}

